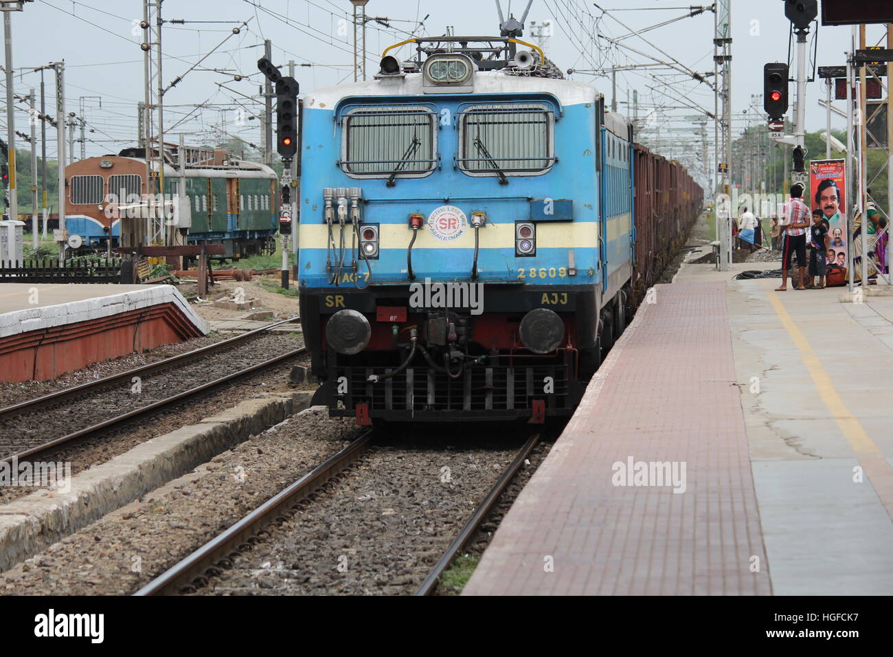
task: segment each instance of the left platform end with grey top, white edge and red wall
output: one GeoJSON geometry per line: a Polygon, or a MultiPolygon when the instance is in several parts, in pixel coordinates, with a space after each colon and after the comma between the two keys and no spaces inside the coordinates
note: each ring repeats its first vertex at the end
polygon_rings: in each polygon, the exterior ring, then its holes
{"type": "Polygon", "coordinates": [[[45,381],[208,333],[171,285],[0,285],[0,381],[45,381]]]}

